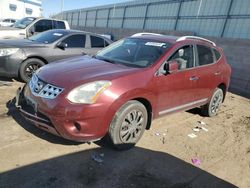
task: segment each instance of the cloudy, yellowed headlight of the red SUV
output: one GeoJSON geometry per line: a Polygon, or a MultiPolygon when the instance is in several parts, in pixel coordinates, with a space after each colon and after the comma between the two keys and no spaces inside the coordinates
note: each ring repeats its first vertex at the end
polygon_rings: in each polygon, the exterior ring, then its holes
{"type": "Polygon", "coordinates": [[[67,99],[72,103],[93,104],[110,85],[111,82],[106,80],[87,83],[71,90],[67,99]]]}

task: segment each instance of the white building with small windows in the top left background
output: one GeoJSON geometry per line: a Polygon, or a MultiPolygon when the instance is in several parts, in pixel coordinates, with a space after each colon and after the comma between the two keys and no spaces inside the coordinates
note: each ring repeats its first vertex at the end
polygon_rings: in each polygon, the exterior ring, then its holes
{"type": "Polygon", "coordinates": [[[23,17],[41,17],[42,3],[39,0],[0,0],[0,19],[14,18],[21,19],[23,17]],[[32,4],[34,3],[34,4],[32,4]],[[16,10],[11,10],[10,6],[16,6],[16,10]],[[32,10],[31,14],[27,14],[26,9],[32,10]]]}

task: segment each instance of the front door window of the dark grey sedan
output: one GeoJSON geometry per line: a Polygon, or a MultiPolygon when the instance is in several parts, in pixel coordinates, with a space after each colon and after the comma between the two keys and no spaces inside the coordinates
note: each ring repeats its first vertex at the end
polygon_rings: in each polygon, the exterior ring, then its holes
{"type": "Polygon", "coordinates": [[[67,48],[84,48],[86,42],[86,35],[71,35],[64,39],[62,42],[67,44],[67,48]]]}

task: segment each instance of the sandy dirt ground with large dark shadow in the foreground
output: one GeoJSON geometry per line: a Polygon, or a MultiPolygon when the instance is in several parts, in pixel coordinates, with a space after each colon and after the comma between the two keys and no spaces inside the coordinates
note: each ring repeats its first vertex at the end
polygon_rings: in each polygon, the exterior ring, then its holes
{"type": "Polygon", "coordinates": [[[0,81],[0,187],[250,187],[249,99],[228,93],[213,118],[194,109],[154,120],[135,148],[119,152],[25,122],[10,102],[20,85],[0,81]],[[192,130],[198,121],[207,132],[192,130]]]}

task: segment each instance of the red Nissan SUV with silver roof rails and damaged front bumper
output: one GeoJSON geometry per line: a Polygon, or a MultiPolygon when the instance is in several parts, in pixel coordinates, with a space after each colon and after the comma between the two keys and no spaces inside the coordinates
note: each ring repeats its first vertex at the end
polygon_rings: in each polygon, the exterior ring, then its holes
{"type": "Polygon", "coordinates": [[[216,115],[230,75],[223,50],[212,41],[140,33],[94,57],[40,68],[16,102],[45,131],[80,142],[109,135],[127,149],[160,116],[194,107],[216,115]]]}

